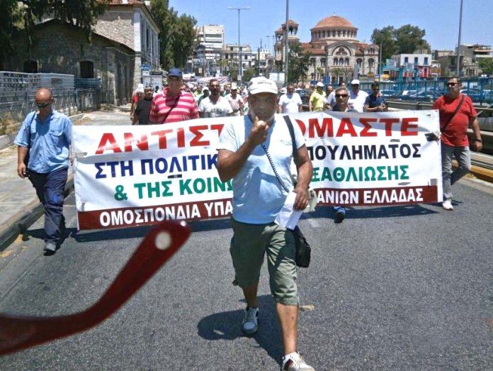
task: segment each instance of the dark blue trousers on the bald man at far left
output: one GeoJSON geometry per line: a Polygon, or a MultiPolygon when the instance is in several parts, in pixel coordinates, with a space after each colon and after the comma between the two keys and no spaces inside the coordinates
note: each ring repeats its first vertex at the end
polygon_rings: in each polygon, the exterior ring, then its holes
{"type": "Polygon", "coordinates": [[[46,174],[30,171],[30,182],[45,207],[45,241],[60,241],[60,228],[65,224],[62,211],[67,175],[67,167],[46,174]]]}

